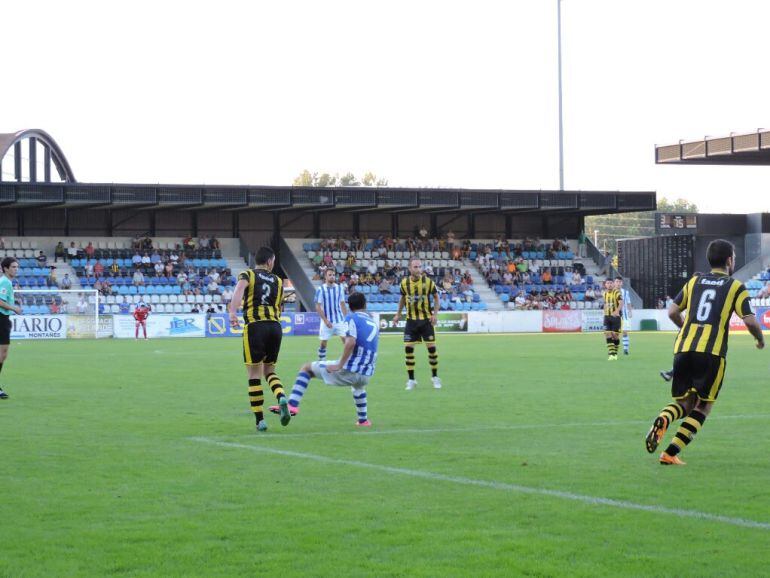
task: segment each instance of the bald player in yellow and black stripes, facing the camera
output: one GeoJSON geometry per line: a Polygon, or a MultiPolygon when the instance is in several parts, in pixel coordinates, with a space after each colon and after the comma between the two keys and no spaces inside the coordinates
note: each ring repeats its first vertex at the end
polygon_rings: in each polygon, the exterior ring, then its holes
{"type": "Polygon", "coordinates": [[[414,389],[414,345],[424,342],[428,347],[433,387],[441,388],[438,376],[438,351],[436,351],[436,313],[440,309],[438,289],[433,279],[422,271],[422,261],[413,258],[409,261],[409,275],[401,280],[401,299],[393,323],[398,323],[401,311],[406,306],[406,327],[404,329],[404,351],[406,353],[407,391],[414,389]]]}

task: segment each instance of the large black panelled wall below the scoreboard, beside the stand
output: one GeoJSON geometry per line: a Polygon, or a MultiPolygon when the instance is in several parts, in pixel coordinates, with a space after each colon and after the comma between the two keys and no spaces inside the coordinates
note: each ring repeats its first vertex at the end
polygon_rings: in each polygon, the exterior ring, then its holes
{"type": "Polygon", "coordinates": [[[620,274],[629,279],[645,308],[654,309],[666,295],[675,297],[692,276],[694,240],[693,235],[618,240],[620,274]]]}

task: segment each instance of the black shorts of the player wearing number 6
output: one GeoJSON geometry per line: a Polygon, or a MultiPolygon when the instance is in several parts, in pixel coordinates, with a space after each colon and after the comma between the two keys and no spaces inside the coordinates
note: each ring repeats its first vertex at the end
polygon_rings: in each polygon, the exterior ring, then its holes
{"type": "Polygon", "coordinates": [[[674,355],[674,379],[671,397],[683,399],[695,393],[703,401],[716,401],[727,362],[710,353],[687,351],[674,355]]]}

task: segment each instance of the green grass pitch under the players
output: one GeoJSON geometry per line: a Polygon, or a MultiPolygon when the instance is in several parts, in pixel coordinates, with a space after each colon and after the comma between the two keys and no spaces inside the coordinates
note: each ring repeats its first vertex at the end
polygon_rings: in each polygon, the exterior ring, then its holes
{"type": "MultiPolygon", "coordinates": [[[[439,336],[444,389],[418,349],[406,392],[384,336],[371,431],[314,380],[257,434],[237,339],[14,342],[0,575],[766,576],[768,353],[731,337],[688,465],[666,468],[643,437],[671,343],[632,335],[608,363],[598,334],[439,336]]],[[[284,341],[287,389],[316,346],[284,341]]]]}

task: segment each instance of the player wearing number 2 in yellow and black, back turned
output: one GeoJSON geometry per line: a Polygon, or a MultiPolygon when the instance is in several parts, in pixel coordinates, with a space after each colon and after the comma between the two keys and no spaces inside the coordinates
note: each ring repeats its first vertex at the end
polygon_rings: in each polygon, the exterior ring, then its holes
{"type": "Polygon", "coordinates": [[[281,309],[283,306],[283,281],[274,274],[275,253],[270,247],[262,247],[256,254],[256,266],[238,276],[233,299],[230,301],[230,325],[238,328],[238,308],[243,307],[243,361],[249,376],[249,401],[257,422],[257,431],[265,431],[262,406],[262,377],[278,400],[281,425],[291,419],[288,400],[283,384],[275,373],[278,353],[281,351],[281,309]]]}

